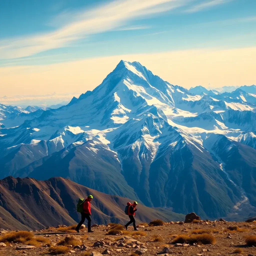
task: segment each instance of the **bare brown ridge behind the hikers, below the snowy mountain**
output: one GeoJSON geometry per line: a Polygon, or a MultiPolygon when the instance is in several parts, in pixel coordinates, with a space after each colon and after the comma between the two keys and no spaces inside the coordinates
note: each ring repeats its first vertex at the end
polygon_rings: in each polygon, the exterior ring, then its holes
{"type": "MultiPolygon", "coordinates": [[[[124,223],[124,208],[134,199],[106,195],[63,178],[38,181],[31,178],[7,177],[0,180],[0,226],[4,229],[45,229],[73,225],[80,221],[76,211],[80,197],[93,195],[92,221],[97,224],[124,223]]],[[[161,218],[164,221],[184,220],[182,214],[167,209],[138,205],[137,222],[161,218]]]]}

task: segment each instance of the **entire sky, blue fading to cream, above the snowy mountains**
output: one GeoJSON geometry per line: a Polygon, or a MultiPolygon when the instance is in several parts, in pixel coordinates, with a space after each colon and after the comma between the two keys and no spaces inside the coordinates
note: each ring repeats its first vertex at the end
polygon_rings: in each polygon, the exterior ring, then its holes
{"type": "Polygon", "coordinates": [[[255,0],[1,0],[0,25],[0,99],[84,93],[120,59],[186,88],[256,83],[255,0]]]}

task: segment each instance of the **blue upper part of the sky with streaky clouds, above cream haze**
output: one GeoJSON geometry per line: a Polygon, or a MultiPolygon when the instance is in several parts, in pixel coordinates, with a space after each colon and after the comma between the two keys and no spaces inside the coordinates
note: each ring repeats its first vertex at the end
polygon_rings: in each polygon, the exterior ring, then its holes
{"type": "Polygon", "coordinates": [[[1,66],[180,49],[251,47],[256,42],[256,1],[2,0],[0,23],[1,66]],[[153,4],[144,8],[139,6],[143,2],[153,4]],[[129,13],[129,8],[134,11],[129,13]],[[105,14],[104,9],[112,13],[105,14]],[[123,17],[116,15],[120,9],[123,17]],[[95,17],[102,19],[101,29],[95,17]],[[86,21],[89,24],[82,24],[86,21]],[[67,34],[61,31],[70,24],[81,28],[67,34]],[[54,35],[58,31],[63,35],[54,35]],[[52,39],[47,38],[51,33],[52,39]],[[33,41],[33,37],[44,36],[48,42],[33,41]]]}

